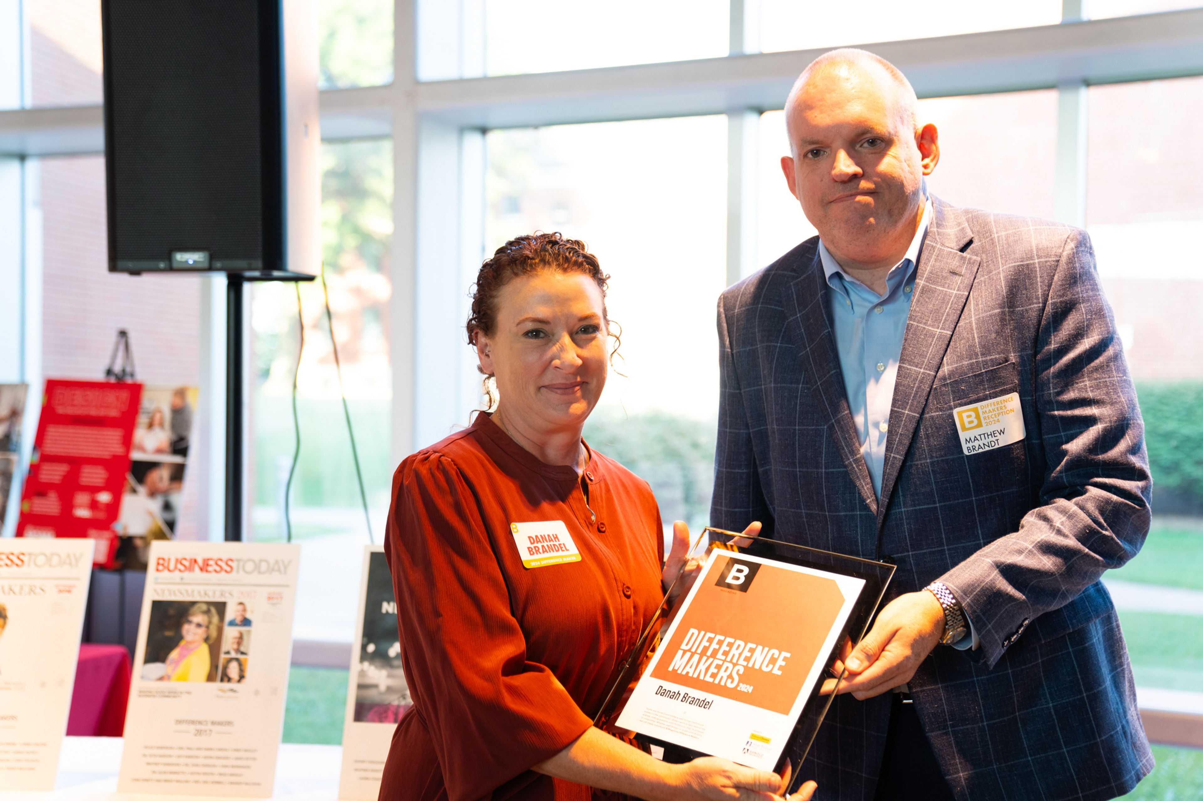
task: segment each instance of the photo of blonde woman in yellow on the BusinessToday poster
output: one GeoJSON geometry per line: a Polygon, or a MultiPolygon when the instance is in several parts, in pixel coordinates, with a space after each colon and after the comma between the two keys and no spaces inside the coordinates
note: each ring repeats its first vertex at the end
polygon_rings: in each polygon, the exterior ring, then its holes
{"type": "Polygon", "coordinates": [[[226,606],[225,601],[150,601],[142,681],[218,681],[226,606]]]}

